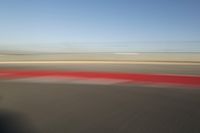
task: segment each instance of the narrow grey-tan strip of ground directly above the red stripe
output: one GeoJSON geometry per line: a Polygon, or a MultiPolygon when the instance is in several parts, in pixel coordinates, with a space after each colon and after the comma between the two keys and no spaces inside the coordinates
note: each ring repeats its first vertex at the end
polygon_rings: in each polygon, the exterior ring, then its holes
{"type": "Polygon", "coordinates": [[[200,75],[200,64],[0,64],[0,70],[60,70],[200,75]]]}

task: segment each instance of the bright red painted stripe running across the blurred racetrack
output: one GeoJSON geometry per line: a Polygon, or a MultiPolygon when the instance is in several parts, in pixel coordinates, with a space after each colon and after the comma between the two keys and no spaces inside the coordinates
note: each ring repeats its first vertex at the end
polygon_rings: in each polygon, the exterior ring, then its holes
{"type": "Polygon", "coordinates": [[[164,75],[164,74],[134,74],[110,72],[71,72],[71,71],[30,71],[30,70],[2,70],[2,78],[26,78],[38,76],[78,77],[95,79],[120,79],[129,82],[166,83],[200,87],[200,76],[164,75]]]}

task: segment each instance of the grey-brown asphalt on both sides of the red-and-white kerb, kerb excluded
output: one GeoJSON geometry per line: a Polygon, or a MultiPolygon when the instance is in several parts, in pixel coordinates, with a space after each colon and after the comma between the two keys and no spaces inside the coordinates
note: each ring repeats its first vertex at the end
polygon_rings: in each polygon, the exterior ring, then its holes
{"type": "MultiPolygon", "coordinates": [[[[199,75],[197,66],[161,66],[50,65],[1,66],[1,69],[199,75]]],[[[0,126],[12,132],[199,133],[199,105],[198,88],[0,81],[0,126]]]]}

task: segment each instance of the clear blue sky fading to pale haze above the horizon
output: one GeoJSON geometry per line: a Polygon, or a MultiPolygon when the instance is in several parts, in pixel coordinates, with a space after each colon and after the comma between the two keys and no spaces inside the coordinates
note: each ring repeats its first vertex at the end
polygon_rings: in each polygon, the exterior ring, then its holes
{"type": "Polygon", "coordinates": [[[0,50],[200,52],[200,0],[0,0],[0,50]]]}

